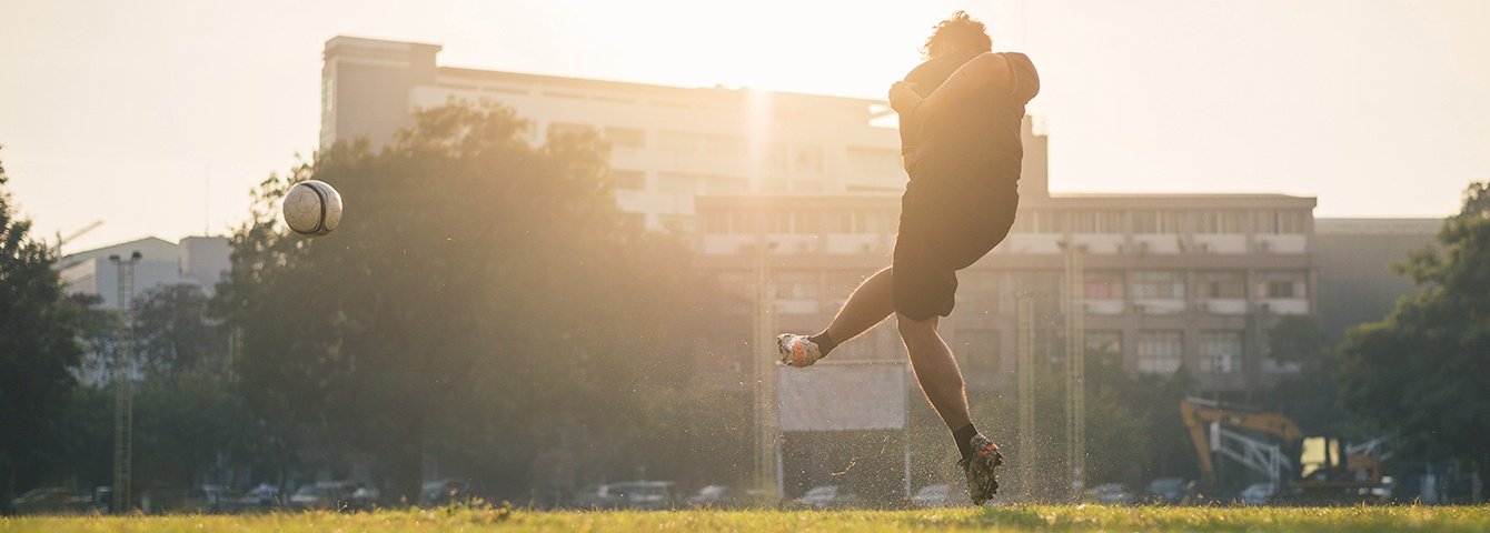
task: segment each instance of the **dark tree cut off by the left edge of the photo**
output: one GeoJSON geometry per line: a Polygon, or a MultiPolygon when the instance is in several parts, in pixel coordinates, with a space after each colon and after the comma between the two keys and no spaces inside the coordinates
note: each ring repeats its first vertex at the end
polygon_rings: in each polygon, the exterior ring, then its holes
{"type": "MultiPolygon", "coordinates": [[[[7,177],[0,165],[0,188],[7,177]]],[[[37,459],[55,435],[57,414],[77,363],[77,310],[63,296],[52,252],[28,237],[0,189],[0,506],[18,482],[36,482],[37,459]]]]}

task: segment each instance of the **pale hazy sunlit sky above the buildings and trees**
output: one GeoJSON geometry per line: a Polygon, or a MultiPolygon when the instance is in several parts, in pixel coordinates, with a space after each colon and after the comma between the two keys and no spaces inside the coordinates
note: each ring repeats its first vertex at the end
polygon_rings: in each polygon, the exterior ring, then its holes
{"type": "Polygon", "coordinates": [[[0,0],[0,161],[37,237],[104,222],[66,252],[228,234],[316,150],[338,34],[443,45],[443,66],[882,98],[957,9],[1040,68],[1056,194],[1442,217],[1490,180],[1480,0],[0,0]]]}

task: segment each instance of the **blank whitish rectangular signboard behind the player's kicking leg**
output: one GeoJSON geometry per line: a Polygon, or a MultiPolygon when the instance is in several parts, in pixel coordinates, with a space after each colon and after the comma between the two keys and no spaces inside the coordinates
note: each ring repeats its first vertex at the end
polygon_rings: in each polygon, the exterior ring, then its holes
{"type": "Polygon", "coordinates": [[[782,432],[906,427],[906,363],[818,362],[778,368],[782,432]]]}

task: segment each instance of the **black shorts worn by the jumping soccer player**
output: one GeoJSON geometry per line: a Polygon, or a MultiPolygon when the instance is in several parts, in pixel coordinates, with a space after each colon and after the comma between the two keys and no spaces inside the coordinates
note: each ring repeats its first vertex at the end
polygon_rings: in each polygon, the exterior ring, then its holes
{"type": "Polygon", "coordinates": [[[895,311],[912,320],[952,313],[957,271],[1009,235],[1019,205],[1018,177],[991,173],[918,173],[900,198],[895,237],[895,311]]]}

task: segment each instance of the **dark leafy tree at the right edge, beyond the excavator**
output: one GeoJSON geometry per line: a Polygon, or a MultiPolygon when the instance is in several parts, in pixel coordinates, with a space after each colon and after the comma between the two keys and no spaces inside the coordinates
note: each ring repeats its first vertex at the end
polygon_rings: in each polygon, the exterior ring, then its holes
{"type": "Polygon", "coordinates": [[[1417,284],[1338,350],[1341,403],[1420,457],[1459,459],[1490,479],[1490,183],[1465,192],[1438,246],[1396,271],[1417,284]]]}

